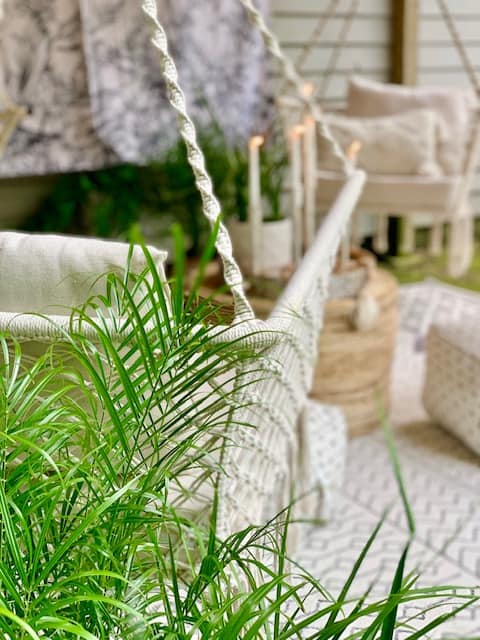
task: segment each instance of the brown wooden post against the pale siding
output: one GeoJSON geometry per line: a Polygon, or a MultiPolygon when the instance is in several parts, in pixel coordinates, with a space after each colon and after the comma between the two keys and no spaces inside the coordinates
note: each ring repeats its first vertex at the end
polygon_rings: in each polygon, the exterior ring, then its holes
{"type": "Polygon", "coordinates": [[[414,85],[418,72],[419,0],[391,0],[391,81],[414,85]]]}

